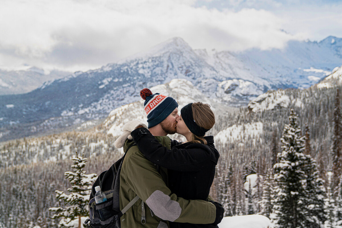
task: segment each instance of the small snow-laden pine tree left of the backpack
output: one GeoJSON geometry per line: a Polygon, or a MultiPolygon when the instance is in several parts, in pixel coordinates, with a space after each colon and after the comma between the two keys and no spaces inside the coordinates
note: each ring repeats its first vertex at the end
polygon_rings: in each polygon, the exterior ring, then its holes
{"type": "Polygon", "coordinates": [[[76,157],[72,158],[74,165],[71,166],[74,172],[65,172],[65,178],[72,185],[68,188],[69,195],[65,194],[63,191],[56,190],[56,198],[63,205],[64,208],[50,208],[50,211],[55,212],[52,218],[61,218],[58,228],[81,228],[81,217],[87,217],[88,212],[88,201],[91,192],[91,186],[95,182],[97,175],[86,174],[84,167],[86,166],[87,158],[78,156],[76,152],[76,157]],[[78,220],[75,223],[75,220],[78,220]],[[75,225],[76,224],[76,225],[75,225]]]}

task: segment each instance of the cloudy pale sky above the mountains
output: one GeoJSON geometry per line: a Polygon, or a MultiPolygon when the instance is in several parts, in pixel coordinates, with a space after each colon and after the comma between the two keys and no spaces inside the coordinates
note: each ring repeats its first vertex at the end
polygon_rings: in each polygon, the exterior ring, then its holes
{"type": "Polygon", "coordinates": [[[86,71],[183,38],[192,48],[282,48],[342,38],[342,0],[1,0],[0,69],[86,71]]]}

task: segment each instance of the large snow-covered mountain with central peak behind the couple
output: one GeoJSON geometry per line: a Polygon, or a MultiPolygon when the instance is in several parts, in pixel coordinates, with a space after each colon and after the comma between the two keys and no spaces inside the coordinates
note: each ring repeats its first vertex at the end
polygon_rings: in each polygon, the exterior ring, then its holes
{"type": "Polygon", "coordinates": [[[321,42],[291,41],[282,50],[233,53],[194,50],[173,38],[148,52],[75,72],[27,94],[0,96],[0,128],[7,132],[6,126],[40,124],[50,118],[58,119],[60,128],[75,119],[106,118],[115,108],[140,100],[142,88],[176,78],[190,81],[203,97],[240,106],[270,89],[313,85],[341,65],[341,47],[342,39],[328,37],[321,42]]]}

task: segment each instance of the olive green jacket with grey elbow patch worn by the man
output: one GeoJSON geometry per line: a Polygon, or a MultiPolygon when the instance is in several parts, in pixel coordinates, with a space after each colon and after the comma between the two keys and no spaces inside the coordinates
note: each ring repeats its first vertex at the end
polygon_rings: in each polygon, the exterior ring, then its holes
{"type": "MultiPolygon", "coordinates": [[[[156,137],[170,148],[170,138],[156,137]]],[[[127,140],[123,149],[133,144],[127,140]]],[[[166,186],[166,170],[160,173],[136,145],[129,148],[120,173],[120,210],[135,196],[140,199],[121,216],[121,228],[167,228],[168,222],[210,224],[215,221],[215,206],[204,200],[186,200],[172,194],[166,186]],[[142,223],[142,200],[146,223],[142,223]],[[150,210],[151,209],[151,210],[150,210]],[[152,212],[153,211],[153,212],[152,212]]]]}

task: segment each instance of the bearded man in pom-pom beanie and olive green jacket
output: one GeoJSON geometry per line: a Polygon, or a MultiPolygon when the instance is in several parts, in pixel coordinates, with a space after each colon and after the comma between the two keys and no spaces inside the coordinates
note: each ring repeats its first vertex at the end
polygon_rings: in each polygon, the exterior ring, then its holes
{"type": "MultiPolygon", "coordinates": [[[[154,136],[166,136],[176,132],[178,104],[171,98],[152,94],[143,89],[148,128],[154,136]]],[[[130,131],[139,126],[123,129],[124,134],[118,141],[127,138],[130,131]]],[[[126,126],[127,127],[127,126],[126,126]]],[[[160,142],[170,148],[169,137],[159,137],[160,142]]],[[[116,141],[117,143],[117,141],[116,141]]],[[[134,142],[126,141],[126,151],[134,142]]],[[[120,146],[120,145],[119,145],[120,146]]],[[[120,174],[120,210],[136,195],[140,197],[122,217],[121,227],[168,227],[168,221],[195,224],[217,224],[223,216],[223,208],[204,200],[186,200],[172,194],[166,186],[165,169],[158,172],[155,165],[148,161],[137,146],[131,147],[124,158],[120,174]],[[145,205],[145,203],[147,205],[145,205]]]]}

